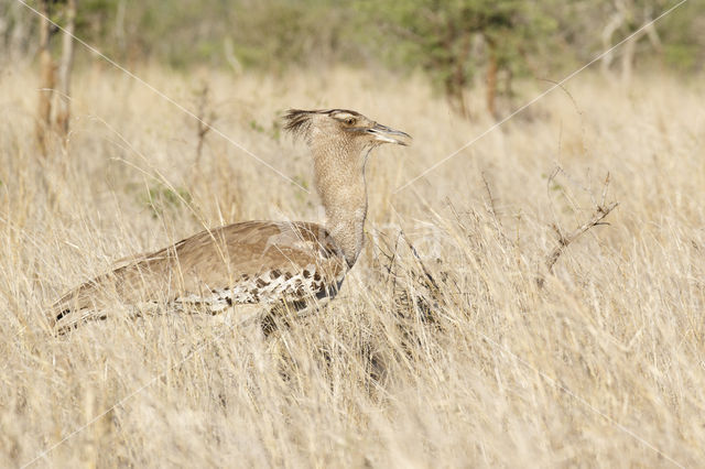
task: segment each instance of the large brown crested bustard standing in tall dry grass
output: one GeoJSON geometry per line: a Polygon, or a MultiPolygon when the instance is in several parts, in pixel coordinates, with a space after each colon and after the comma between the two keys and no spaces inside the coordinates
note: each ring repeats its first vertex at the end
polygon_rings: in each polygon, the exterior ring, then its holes
{"type": "Polygon", "coordinates": [[[368,156],[412,138],[347,109],[290,109],[283,121],[310,149],[324,223],[239,221],[138,254],[56,301],[48,310],[52,329],[64,334],[105,319],[116,298],[132,308],[162,302],[212,314],[231,306],[303,310],[333,299],[364,246],[368,156]]]}

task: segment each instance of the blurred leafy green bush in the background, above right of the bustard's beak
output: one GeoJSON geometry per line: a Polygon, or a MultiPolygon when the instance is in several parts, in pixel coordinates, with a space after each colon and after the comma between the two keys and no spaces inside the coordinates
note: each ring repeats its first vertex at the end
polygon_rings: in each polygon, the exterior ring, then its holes
{"type": "Polygon", "coordinates": [[[403,44],[399,51],[406,63],[429,73],[462,107],[463,89],[479,66],[491,63],[492,73],[527,69],[527,57],[555,28],[546,8],[551,3],[369,0],[360,7],[376,18],[389,43],[403,44]]]}

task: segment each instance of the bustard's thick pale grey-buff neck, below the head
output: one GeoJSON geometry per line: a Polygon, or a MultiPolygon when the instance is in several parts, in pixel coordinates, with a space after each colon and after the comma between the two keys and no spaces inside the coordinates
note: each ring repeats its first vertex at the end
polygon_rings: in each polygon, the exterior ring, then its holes
{"type": "Polygon", "coordinates": [[[316,189],[326,211],[326,229],[351,268],[362,250],[365,239],[365,163],[368,151],[330,146],[312,150],[316,189]]]}

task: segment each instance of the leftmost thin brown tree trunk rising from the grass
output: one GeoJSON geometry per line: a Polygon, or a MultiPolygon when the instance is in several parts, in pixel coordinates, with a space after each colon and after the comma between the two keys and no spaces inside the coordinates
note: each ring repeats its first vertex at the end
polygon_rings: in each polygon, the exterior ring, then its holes
{"type": "Polygon", "coordinates": [[[56,66],[50,51],[48,0],[40,1],[40,99],[36,117],[36,142],[42,155],[46,156],[47,132],[52,121],[52,94],[56,66]]]}

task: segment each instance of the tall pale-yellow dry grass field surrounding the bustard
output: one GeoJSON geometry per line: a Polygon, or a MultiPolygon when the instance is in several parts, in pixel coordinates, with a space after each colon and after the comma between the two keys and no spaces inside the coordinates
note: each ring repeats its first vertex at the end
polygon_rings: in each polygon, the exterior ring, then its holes
{"type": "Polygon", "coordinates": [[[321,210],[214,133],[196,161],[195,122],[105,68],[76,76],[70,140],[42,161],[34,75],[3,70],[0,466],[50,448],[35,465],[705,460],[702,85],[646,77],[623,92],[582,75],[575,103],[553,92],[394,193],[490,122],[458,120],[422,81],[387,75],[142,75],[194,109],[205,80],[216,127],[306,186],[307,151],[275,124],[289,107],[350,107],[415,142],[373,156],[369,242],[316,315],[263,339],[230,328],[234,313],[128,321],[116,307],[56,338],[43,306],[118,258],[204,225],[321,210]],[[585,222],[607,172],[611,226],[572,243],[539,287],[552,225],[585,222]]]}

